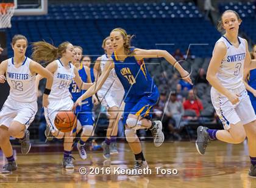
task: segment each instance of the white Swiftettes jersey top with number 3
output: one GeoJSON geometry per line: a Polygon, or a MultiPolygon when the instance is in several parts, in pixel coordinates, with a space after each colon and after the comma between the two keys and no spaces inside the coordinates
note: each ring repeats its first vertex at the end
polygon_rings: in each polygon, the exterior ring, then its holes
{"type": "MultiPolygon", "coordinates": [[[[227,53],[221,61],[221,66],[217,73],[217,78],[222,86],[227,89],[238,89],[244,87],[243,70],[244,59],[246,57],[246,42],[238,37],[239,47],[234,47],[225,36],[222,36],[217,42],[224,42],[227,46],[227,53]]],[[[217,43],[216,42],[216,43],[217,43]]]]}

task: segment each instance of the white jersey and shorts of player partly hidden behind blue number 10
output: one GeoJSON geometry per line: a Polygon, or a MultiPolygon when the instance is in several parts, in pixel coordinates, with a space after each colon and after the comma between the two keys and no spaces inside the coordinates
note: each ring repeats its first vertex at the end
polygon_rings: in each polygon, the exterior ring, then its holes
{"type": "MultiPolygon", "coordinates": [[[[100,68],[101,72],[103,71],[108,57],[106,54],[101,56],[100,68]]],[[[112,69],[108,75],[107,80],[104,82],[101,89],[98,91],[98,97],[101,101],[101,104],[104,107],[119,107],[123,101],[124,97],[124,88],[116,76],[115,69],[112,69]]]]}

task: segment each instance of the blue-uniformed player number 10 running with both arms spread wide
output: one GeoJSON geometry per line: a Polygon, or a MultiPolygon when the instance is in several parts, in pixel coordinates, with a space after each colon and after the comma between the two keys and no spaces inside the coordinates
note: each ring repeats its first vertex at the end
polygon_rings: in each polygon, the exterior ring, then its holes
{"type": "Polygon", "coordinates": [[[130,175],[137,175],[139,169],[145,169],[148,164],[143,156],[140,140],[136,135],[137,129],[150,129],[154,138],[155,146],[161,146],[164,141],[161,121],[152,122],[151,109],[157,103],[159,92],[157,86],[149,75],[144,58],[165,58],[170,64],[175,65],[182,78],[191,83],[190,75],[185,71],[168,52],[165,50],[143,50],[130,47],[132,36],[127,35],[126,30],[116,28],[110,33],[110,40],[115,50],[98,82],[90,87],[74,106],[82,104],[82,100],[98,92],[112,69],[123,84],[125,94],[124,118],[126,124],[126,140],[135,155],[135,166],[130,175]]]}

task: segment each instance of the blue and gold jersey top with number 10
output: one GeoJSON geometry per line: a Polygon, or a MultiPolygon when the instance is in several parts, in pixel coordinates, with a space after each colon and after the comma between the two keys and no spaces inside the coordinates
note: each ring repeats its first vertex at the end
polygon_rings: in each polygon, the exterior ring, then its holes
{"type": "Polygon", "coordinates": [[[115,52],[112,58],[115,63],[116,75],[125,90],[124,102],[137,102],[142,96],[158,93],[158,89],[149,75],[143,59],[137,61],[134,56],[127,56],[121,62],[115,52]]]}

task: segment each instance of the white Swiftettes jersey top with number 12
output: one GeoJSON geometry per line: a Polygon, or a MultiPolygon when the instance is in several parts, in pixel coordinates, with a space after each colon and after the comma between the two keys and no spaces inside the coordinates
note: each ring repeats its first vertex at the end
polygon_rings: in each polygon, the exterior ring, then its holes
{"type": "Polygon", "coordinates": [[[37,101],[35,93],[35,75],[32,75],[29,69],[29,58],[25,58],[23,64],[16,68],[13,58],[8,59],[6,70],[7,82],[10,86],[11,98],[18,102],[34,102],[37,101]]]}

